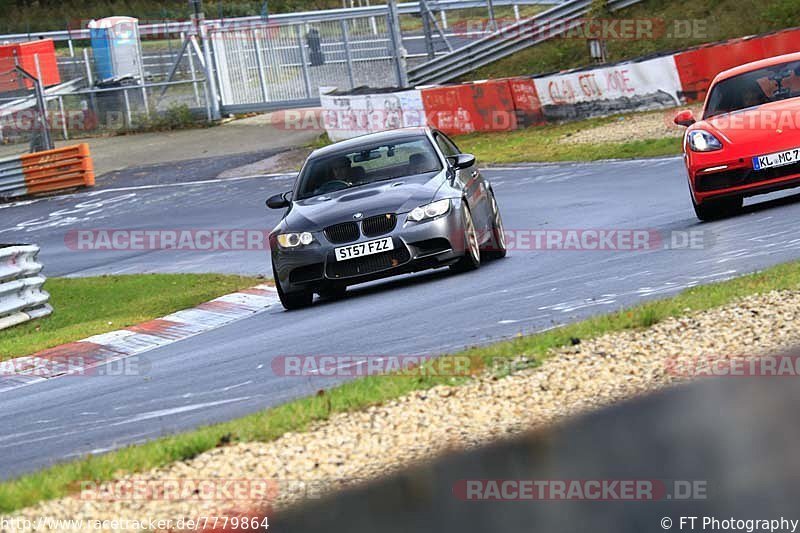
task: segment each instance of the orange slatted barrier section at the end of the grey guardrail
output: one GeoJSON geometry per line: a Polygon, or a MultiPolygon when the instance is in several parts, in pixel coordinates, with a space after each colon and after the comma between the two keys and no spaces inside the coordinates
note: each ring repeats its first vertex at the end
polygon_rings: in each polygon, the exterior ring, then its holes
{"type": "Polygon", "coordinates": [[[91,187],[94,163],[88,144],[20,156],[28,194],[91,187]]]}

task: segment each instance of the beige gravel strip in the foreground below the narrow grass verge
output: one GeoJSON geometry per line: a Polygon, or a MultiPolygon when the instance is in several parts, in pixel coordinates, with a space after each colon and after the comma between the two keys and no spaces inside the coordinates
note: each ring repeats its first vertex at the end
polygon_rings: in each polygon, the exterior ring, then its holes
{"type": "Polygon", "coordinates": [[[562,348],[538,367],[414,392],[364,411],[335,415],[308,432],[217,448],[101,486],[89,496],[44,502],[5,518],[179,519],[286,508],[449,450],[541,429],[692,377],[704,379],[693,370],[712,361],[719,364],[720,358],[731,364],[728,359],[782,352],[798,340],[800,291],[755,295],[709,311],[687,310],[683,317],[648,329],[607,334],[562,348]],[[270,480],[274,485],[266,498],[270,501],[262,502],[196,495],[179,500],[98,497],[119,494],[120,486],[132,482],[210,479],[270,480]]]}

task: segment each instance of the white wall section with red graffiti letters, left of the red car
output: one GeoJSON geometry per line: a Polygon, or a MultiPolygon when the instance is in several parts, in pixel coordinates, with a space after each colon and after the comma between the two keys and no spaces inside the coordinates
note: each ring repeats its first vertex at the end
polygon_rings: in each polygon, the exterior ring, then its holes
{"type": "MultiPolygon", "coordinates": [[[[681,82],[672,56],[640,63],[624,63],[580,72],[535,78],[539,100],[545,108],[594,102],[621,102],[630,108],[648,102],[654,107],[680,104],[681,82]]],[[[548,117],[549,118],[549,117],[548,117]]]]}

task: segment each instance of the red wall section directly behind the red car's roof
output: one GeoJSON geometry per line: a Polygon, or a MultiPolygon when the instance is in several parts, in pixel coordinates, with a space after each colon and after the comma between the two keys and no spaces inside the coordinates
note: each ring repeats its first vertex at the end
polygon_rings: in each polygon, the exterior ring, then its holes
{"type": "Polygon", "coordinates": [[[732,39],[675,54],[683,93],[689,102],[705,99],[714,76],[744,63],[800,51],[800,28],[760,37],[732,39]]]}

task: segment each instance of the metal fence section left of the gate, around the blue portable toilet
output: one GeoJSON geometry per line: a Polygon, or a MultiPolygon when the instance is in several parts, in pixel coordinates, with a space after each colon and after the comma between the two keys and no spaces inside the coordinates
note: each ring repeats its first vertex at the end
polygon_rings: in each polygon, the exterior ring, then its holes
{"type": "MultiPolygon", "coordinates": [[[[178,41],[180,43],[180,41],[178,41]]],[[[42,124],[53,139],[180,127],[197,117],[210,118],[199,47],[144,56],[142,77],[103,83],[97,80],[91,49],[59,56],[62,80],[44,89],[43,105],[35,88],[15,73],[11,60],[0,61],[0,143],[26,143],[41,149],[42,124]]]]}

